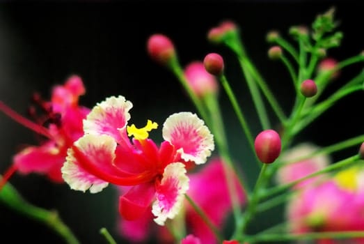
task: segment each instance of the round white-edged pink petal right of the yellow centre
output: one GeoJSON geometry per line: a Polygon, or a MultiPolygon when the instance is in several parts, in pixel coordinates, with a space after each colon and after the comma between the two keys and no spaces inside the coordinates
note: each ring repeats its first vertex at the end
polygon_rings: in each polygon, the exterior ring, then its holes
{"type": "Polygon", "coordinates": [[[169,116],[163,125],[163,138],[175,146],[183,160],[197,165],[205,163],[214,150],[214,136],[204,121],[191,112],[169,116]]]}

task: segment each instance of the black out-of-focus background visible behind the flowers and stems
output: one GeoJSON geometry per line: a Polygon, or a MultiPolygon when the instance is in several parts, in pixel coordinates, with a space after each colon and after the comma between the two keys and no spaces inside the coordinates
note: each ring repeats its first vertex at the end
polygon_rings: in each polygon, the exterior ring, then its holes
{"type": "MultiPolygon", "coordinates": [[[[153,119],[161,125],[169,114],[196,112],[177,79],[153,62],[145,43],[153,33],[164,33],[173,42],[183,66],[203,60],[209,52],[220,52],[232,87],[248,114],[253,134],[258,133],[247,87],[235,56],[207,41],[207,31],[222,20],[235,21],[241,30],[248,55],[262,71],[286,112],[292,107],[292,84],[283,65],[267,58],[267,31],[276,29],[287,36],[296,24],[310,25],[318,13],[336,7],[336,17],[345,37],[342,47],[329,51],[338,60],[363,50],[363,7],[361,1],[100,1],[100,2],[17,2],[0,3],[0,99],[25,114],[33,91],[47,97],[54,84],[78,74],[86,85],[81,104],[93,107],[112,95],[123,95],[134,104],[131,123],[143,125],[153,119]]],[[[335,89],[363,66],[348,68],[331,86],[335,89]]],[[[317,123],[300,135],[320,146],[363,134],[359,100],[362,93],[345,98],[326,112],[317,123]]],[[[244,135],[223,91],[221,107],[228,127],[232,157],[253,184],[257,169],[244,135]]],[[[275,120],[275,117],[272,116],[275,120]]],[[[155,133],[157,134],[157,133],[155,133]]],[[[33,133],[0,114],[0,172],[11,163],[22,143],[35,142],[33,133]]],[[[160,139],[158,137],[157,139],[160,139]]],[[[356,148],[334,155],[334,159],[356,153],[356,148]]],[[[32,204],[56,209],[81,243],[106,243],[99,234],[107,227],[121,242],[116,231],[117,194],[112,186],[97,195],[70,190],[38,175],[10,179],[32,204]]],[[[218,210],[216,210],[218,211],[218,210]]],[[[262,228],[276,222],[266,215],[255,223],[262,228]]],[[[52,230],[0,206],[1,239],[12,243],[63,243],[52,230]]],[[[3,241],[0,241],[3,243],[3,241]]]]}

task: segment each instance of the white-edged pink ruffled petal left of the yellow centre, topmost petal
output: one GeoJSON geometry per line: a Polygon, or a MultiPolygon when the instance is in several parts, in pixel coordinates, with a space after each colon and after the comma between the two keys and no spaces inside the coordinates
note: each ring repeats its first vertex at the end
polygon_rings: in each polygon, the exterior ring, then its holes
{"type": "Polygon", "coordinates": [[[109,135],[117,142],[124,142],[120,130],[126,135],[125,126],[130,119],[129,109],[132,102],[125,100],[123,96],[112,96],[93,107],[86,120],[84,120],[84,132],[93,135],[109,135]]]}

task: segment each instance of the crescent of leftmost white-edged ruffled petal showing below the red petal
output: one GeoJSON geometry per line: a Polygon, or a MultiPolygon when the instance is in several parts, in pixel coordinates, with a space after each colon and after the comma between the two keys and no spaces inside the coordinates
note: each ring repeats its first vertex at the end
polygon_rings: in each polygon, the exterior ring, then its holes
{"type": "Polygon", "coordinates": [[[100,178],[95,177],[93,174],[89,174],[80,167],[77,158],[74,158],[74,151],[72,148],[68,149],[68,156],[61,171],[63,179],[73,190],[86,192],[86,190],[89,189],[91,193],[97,193],[106,188],[109,184],[102,181],[100,178]]]}

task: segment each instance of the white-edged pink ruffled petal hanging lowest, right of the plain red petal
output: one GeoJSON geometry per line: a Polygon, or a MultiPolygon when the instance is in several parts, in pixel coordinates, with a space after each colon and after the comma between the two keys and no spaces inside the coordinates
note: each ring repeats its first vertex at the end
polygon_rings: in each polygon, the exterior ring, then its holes
{"type": "Polygon", "coordinates": [[[173,162],[164,169],[161,183],[156,186],[157,200],[152,206],[155,222],[164,225],[167,218],[173,219],[182,208],[184,193],[189,189],[189,178],[182,162],[173,162]]]}

